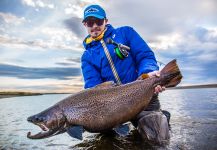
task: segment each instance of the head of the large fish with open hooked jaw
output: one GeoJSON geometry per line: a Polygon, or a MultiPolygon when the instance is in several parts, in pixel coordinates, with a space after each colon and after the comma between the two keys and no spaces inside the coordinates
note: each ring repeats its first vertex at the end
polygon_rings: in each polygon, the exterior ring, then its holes
{"type": "Polygon", "coordinates": [[[28,132],[27,137],[30,139],[43,139],[66,131],[66,118],[58,106],[30,116],[27,118],[27,121],[39,126],[43,130],[35,135],[31,135],[31,132],[28,132]]]}

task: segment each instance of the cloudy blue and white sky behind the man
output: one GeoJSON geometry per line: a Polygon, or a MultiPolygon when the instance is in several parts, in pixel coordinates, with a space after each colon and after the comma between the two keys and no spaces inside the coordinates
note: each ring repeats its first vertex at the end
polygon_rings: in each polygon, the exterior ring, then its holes
{"type": "Polygon", "coordinates": [[[217,83],[216,0],[0,0],[0,91],[82,89],[89,4],[104,7],[114,27],[132,26],[158,61],[176,58],[182,85],[217,83]]]}

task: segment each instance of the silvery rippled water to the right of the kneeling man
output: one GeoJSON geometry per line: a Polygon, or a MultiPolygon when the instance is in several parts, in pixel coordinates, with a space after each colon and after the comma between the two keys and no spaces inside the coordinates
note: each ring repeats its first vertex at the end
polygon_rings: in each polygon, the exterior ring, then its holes
{"type": "Polygon", "coordinates": [[[170,110],[173,149],[216,149],[217,89],[169,90],[160,95],[170,110]]]}

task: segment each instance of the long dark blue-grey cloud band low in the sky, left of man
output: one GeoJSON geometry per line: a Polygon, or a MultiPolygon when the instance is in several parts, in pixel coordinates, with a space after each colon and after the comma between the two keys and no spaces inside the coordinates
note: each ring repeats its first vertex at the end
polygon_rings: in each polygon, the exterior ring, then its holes
{"type": "Polygon", "coordinates": [[[0,64],[0,76],[16,77],[20,79],[59,79],[66,80],[73,76],[80,76],[80,68],[73,67],[50,67],[31,68],[16,65],[0,64]]]}

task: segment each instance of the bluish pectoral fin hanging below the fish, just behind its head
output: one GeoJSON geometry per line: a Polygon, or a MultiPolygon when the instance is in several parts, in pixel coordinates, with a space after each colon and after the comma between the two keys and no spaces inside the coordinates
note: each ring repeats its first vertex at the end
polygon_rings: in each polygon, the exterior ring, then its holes
{"type": "Polygon", "coordinates": [[[83,133],[84,129],[82,126],[71,126],[67,128],[67,133],[76,139],[82,140],[82,133],[83,133]]]}

